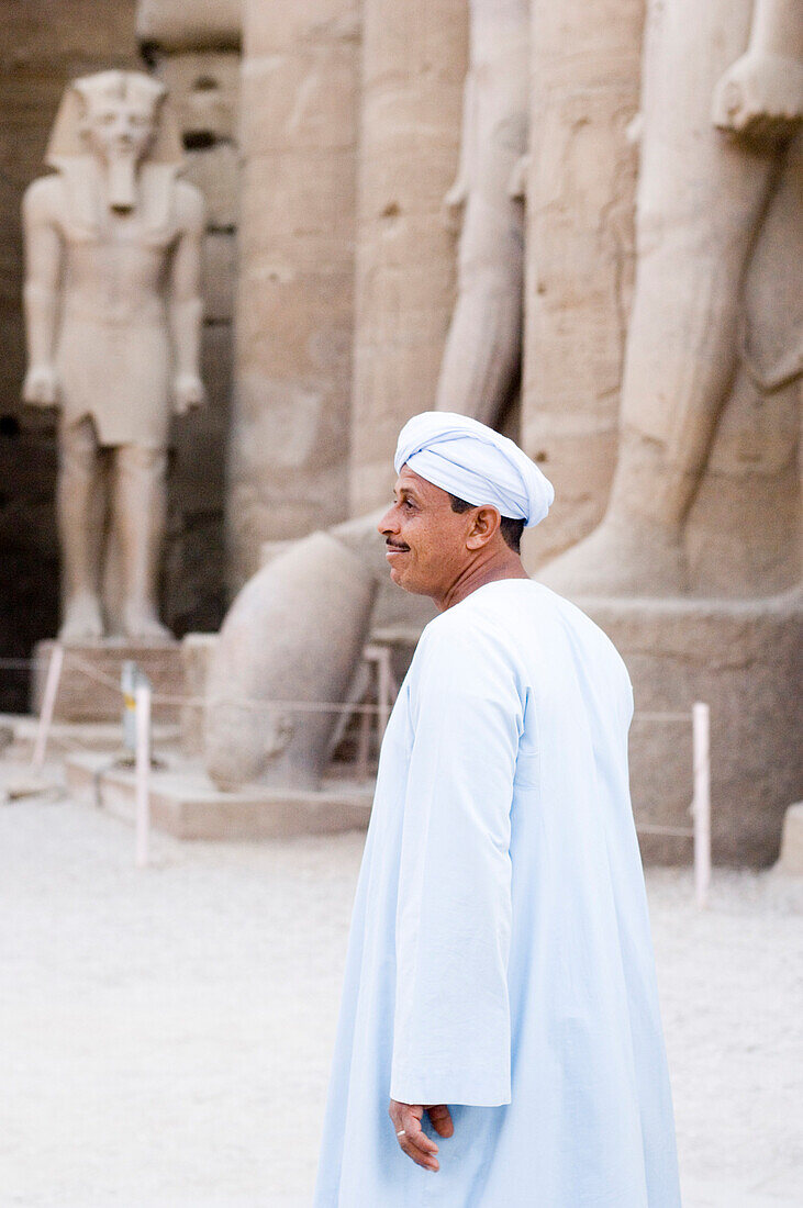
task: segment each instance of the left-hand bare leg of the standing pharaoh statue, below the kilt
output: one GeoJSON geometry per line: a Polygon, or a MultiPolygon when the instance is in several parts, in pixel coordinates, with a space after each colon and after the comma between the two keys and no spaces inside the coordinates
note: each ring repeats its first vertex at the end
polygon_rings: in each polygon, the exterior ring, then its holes
{"type": "Polygon", "coordinates": [[[104,528],[105,451],[91,419],[59,431],[57,513],[62,545],[63,622],[59,640],[93,641],[104,634],[99,554],[104,528]]]}

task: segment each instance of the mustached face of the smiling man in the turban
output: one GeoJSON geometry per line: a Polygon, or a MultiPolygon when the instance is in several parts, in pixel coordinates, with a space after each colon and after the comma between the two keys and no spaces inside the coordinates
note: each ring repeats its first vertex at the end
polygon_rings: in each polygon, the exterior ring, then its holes
{"type": "Polygon", "coordinates": [[[385,539],[390,577],[407,592],[436,603],[450,591],[472,559],[466,538],[473,512],[453,512],[446,490],[401,467],[395,503],[377,528],[385,539]]]}

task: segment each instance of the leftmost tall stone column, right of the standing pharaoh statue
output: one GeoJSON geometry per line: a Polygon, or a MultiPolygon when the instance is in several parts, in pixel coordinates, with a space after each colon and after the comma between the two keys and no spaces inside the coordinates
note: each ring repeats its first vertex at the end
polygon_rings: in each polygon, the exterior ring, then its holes
{"type": "Polygon", "coordinates": [[[234,583],[347,512],[357,0],[245,0],[234,583]]]}

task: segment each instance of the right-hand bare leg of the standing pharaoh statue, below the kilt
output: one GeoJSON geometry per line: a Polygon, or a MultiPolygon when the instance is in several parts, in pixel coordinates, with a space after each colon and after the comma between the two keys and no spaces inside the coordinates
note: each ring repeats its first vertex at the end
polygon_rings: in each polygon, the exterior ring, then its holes
{"type": "Polygon", "coordinates": [[[165,510],[165,451],[121,445],[115,451],[114,523],[123,568],[123,632],[133,640],[170,637],[157,604],[165,510]]]}

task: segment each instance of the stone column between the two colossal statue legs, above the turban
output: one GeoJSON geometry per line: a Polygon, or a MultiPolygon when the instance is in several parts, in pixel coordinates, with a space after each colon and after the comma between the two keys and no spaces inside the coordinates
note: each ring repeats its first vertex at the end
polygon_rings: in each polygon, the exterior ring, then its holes
{"type": "Polygon", "coordinates": [[[599,522],[616,464],[644,7],[533,0],[522,442],[555,487],[535,564],[599,522]]]}

